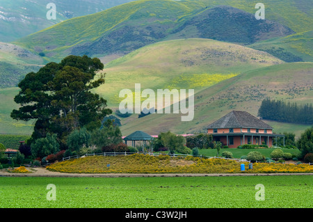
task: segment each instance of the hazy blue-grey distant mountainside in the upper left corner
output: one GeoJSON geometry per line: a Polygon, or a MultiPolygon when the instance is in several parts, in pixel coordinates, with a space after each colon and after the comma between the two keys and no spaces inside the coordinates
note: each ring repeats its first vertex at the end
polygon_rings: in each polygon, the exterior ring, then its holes
{"type": "Polygon", "coordinates": [[[10,42],[72,17],[90,15],[132,0],[1,0],[0,42],[10,42]],[[56,19],[48,20],[48,3],[56,4],[56,19]]]}

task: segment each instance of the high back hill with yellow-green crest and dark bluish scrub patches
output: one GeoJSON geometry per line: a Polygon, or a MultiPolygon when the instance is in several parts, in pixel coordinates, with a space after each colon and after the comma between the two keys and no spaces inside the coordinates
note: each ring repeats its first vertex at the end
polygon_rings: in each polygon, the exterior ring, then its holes
{"type": "Polygon", "coordinates": [[[44,52],[47,59],[58,61],[68,54],[128,54],[145,45],[176,38],[251,44],[294,33],[284,24],[257,20],[254,13],[231,6],[206,7],[195,1],[132,1],[68,19],[13,43],[35,53],[44,52]]]}

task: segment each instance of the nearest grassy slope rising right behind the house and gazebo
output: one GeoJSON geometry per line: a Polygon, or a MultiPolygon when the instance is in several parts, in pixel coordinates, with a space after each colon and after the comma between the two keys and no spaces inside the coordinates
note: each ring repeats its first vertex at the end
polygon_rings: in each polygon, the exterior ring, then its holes
{"type": "MultiPolygon", "coordinates": [[[[195,118],[191,122],[182,122],[179,114],[153,114],[139,119],[133,115],[122,119],[121,129],[125,135],[135,130],[150,134],[168,130],[177,134],[204,132],[207,125],[232,110],[248,111],[257,116],[265,97],[298,104],[312,102],[312,79],[313,63],[284,63],[250,70],[196,93],[195,118]]],[[[266,122],[275,132],[294,132],[297,136],[310,127],[266,122]]]]}

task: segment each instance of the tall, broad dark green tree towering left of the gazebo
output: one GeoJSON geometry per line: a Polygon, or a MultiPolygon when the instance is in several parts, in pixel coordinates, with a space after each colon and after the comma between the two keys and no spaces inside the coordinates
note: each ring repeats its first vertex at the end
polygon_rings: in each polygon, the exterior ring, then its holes
{"type": "Polygon", "coordinates": [[[103,68],[99,58],[67,56],[61,63],[48,63],[37,73],[26,74],[14,99],[20,107],[11,117],[34,120],[31,143],[50,133],[66,144],[74,129],[100,127],[104,116],[112,113],[106,100],[91,92],[104,84],[104,75],[95,79],[103,68]]]}

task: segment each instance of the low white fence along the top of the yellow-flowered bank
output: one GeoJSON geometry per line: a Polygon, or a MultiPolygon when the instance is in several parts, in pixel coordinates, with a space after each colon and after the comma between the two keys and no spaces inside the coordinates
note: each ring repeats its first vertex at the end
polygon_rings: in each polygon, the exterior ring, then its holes
{"type": "MultiPolygon", "coordinates": [[[[78,158],[81,158],[81,157],[90,157],[90,156],[104,156],[104,157],[108,157],[108,156],[128,156],[128,155],[132,155],[132,154],[148,154],[148,155],[151,155],[151,156],[154,156],[154,157],[157,157],[159,155],[168,155],[170,157],[182,157],[182,158],[185,158],[185,157],[193,157],[193,155],[191,154],[164,154],[164,153],[154,153],[154,152],[147,152],[147,153],[143,153],[143,152],[102,152],[102,153],[87,153],[87,154],[84,154],[83,156],[79,156],[79,155],[75,155],[75,156],[72,156],[72,157],[63,157],[63,161],[65,160],[68,160],[68,159],[78,159],[78,158]]],[[[200,158],[202,157],[206,157],[206,156],[202,156],[202,154],[200,156],[198,156],[200,158]]],[[[225,158],[225,157],[206,157],[208,159],[211,159],[211,158],[214,158],[214,159],[230,159],[230,160],[235,160],[235,161],[242,161],[242,162],[248,162],[250,163],[249,160],[246,160],[246,159],[232,159],[232,158],[225,158]]]]}

